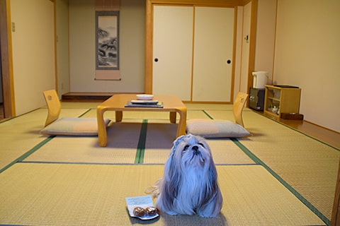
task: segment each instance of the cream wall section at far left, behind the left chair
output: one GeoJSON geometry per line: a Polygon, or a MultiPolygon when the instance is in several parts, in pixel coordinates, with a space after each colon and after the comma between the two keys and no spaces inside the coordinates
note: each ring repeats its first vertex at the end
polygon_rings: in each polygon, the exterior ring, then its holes
{"type": "Polygon", "coordinates": [[[45,105],[42,92],[55,88],[52,1],[11,0],[13,83],[16,114],[45,105]]]}

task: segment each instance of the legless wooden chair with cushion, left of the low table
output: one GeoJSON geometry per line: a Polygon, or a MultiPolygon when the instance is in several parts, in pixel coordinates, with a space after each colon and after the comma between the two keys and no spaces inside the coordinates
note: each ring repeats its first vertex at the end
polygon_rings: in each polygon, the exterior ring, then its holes
{"type": "MultiPolygon", "coordinates": [[[[47,105],[47,117],[45,128],[40,131],[47,135],[64,136],[96,136],[98,135],[98,125],[96,118],[59,118],[62,105],[55,90],[43,92],[47,105]]],[[[110,122],[104,119],[106,126],[110,122]]]]}

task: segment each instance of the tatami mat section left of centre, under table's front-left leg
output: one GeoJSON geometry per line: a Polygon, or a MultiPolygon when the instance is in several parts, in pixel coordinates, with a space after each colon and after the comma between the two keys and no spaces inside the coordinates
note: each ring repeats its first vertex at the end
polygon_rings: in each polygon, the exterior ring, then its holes
{"type": "Polygon", "coordinates": [[[135,162],[140,127],[140,123],[118,123],[108,127],[106,148],[98,146],[97,136],[56,136],[24,161],[132,164],[135,162]]]}

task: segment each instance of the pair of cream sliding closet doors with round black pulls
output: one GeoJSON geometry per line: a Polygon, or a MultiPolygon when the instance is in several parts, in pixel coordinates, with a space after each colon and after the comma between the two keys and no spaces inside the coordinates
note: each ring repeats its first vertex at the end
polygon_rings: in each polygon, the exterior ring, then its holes
{"type": "Polygon", "coordinates": [[[154,6],[152,93],[232,102],[234,8],[154,6]]]}

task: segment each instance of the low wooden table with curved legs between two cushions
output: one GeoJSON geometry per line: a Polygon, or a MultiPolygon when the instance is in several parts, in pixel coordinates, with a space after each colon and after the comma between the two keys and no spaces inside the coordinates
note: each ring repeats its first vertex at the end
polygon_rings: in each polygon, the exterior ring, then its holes
{"type": "Polygon", "coordinates": [[[104,112],[115,111],[115,121],[122,121],[123,112],[170,112],[171,123],[176,124],[176,113],[179,113],[179,126],[176,136],[186,134],[186,106],[175,95],[154,95],[153,100],[163,102],[162,108],[159,107],[125,107],[130,100],[136,100],[134,94],[115,94],[97,107],[98,121],[98,143],[105,147],[108,142],[106,125],[104,124],[104,112]]]}

